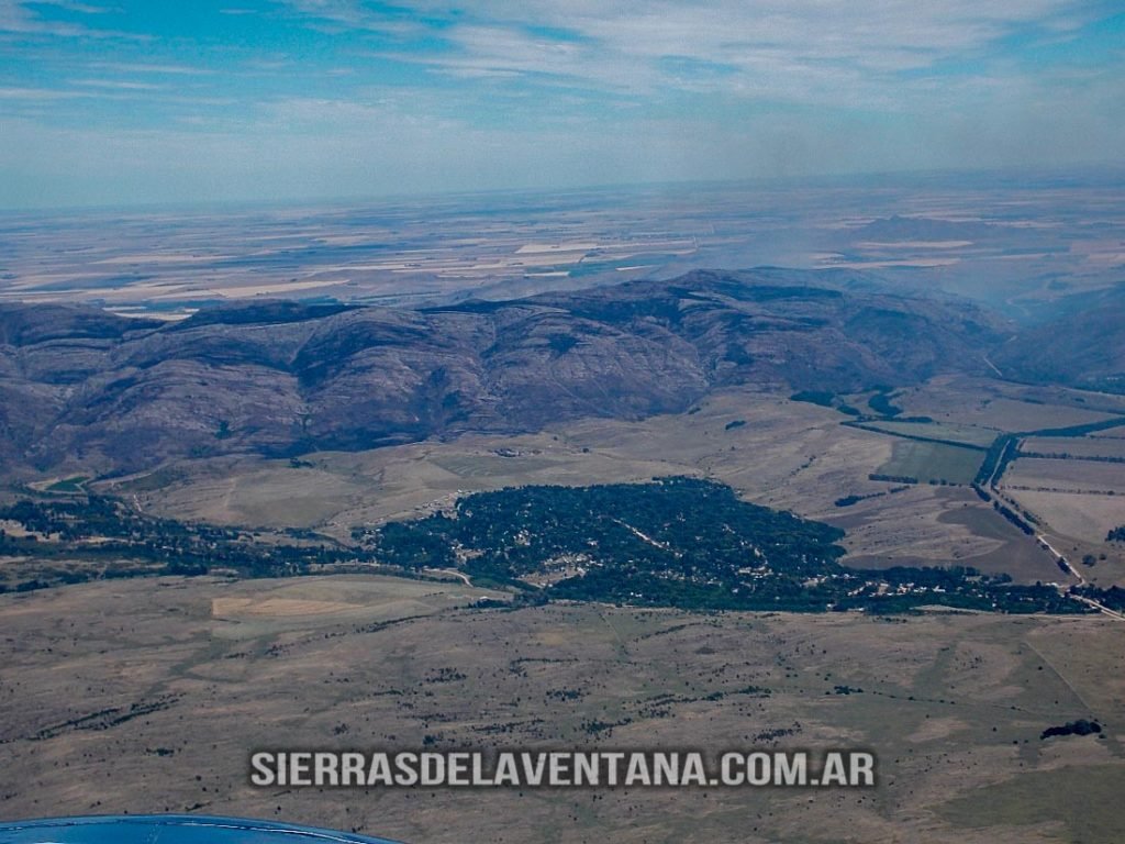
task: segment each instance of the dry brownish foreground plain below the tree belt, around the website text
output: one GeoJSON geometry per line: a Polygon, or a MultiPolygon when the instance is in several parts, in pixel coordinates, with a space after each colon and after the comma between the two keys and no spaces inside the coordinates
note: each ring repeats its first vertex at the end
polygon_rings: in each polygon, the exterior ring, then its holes
{"type": "Polygon", "coordinates": [[[0,596],[0,815],[197,810],[438,843],[1125,833],[1112,619],[505,612],[418,585],[161,578],[0,596]],[[388,614],[403,589],[429,614],[388,614]],[[1076,718],[1104,731],[1040,738],[1076,718]],[[878,788],[250,787],[251,751],[287,745],[863,747],[878,788]]]}

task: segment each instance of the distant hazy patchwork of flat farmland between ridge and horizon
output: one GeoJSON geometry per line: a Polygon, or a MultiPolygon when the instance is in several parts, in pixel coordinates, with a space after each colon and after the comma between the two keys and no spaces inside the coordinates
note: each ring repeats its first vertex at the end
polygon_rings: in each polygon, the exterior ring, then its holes
{"type": "Polygon", "coordinates": [[[201,303],[263,295],[496,298],[768,264],[878,270],[907,289],[983,298],[1011,314],[1042,313],[1063,295],[1118,281],[1114,233],[1123,212],[1119,197],[1107,204],[1102,185],[1063,196],[978,179],[930,186],[925,196],[835,182],[698,185],[207,214],[8,215],[0,300],[98,302],[177,318],[201,303]],[[961,226],[957,236],[927,232],[944,223],[961,226]],[[1104,234],[1091,239],[1099,226],[1104,234]]]}

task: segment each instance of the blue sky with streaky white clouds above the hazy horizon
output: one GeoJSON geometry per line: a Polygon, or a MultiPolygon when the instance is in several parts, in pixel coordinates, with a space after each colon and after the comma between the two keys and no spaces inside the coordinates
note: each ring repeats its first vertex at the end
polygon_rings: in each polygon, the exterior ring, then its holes
{"type": "Polygon", "coordinates": [[[0,0],[0,208],[1123,158],[1119,0],[0,0]]]}

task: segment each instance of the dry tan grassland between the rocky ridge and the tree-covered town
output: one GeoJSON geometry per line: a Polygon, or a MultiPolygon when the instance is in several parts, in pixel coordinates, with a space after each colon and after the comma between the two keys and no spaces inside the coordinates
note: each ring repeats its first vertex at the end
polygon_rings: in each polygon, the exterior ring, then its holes
{"type": "MultiPolygon", "coordinates": [[[[1086,411],[1068,415],[1066,407],[1028,406],[1043,414],[1036,424],[1089,416],[1086,411]]],[[[926,410],[936,417],[935,407],[926,410]]],[[[641,421],[585,420],[519,437],[466,436],[374,451],[315,452],[296,465],[260,458],[204,460],[104,482],[99,488],[173,518],[313,528],[348,539],[353,527],[422,515],[467,492],[706,476],[755,503],[846,528],[849,560],[856,565],[957,563],[1009,571],[1020,581],[1056,577],[1053,558],[1008,530],[968,488],[925,483],[968,484],[983,452],[842,424],[847,420],[817,405],[732,390],[688,413],[641,421]],[[745,424],[728,428],[735,422],[745,424]],[[896,485],[870,481],[872,473],[924,483],[891,494],[896,485]],[[862,500],[838,506],[846,496],[862,500]]],[[[1036,512],[1050,518],[1051,511],[1036,512]]]]}

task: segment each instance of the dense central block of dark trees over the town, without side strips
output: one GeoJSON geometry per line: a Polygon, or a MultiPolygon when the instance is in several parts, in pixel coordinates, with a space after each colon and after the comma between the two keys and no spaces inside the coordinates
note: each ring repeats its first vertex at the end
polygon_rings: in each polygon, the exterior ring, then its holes
{"type": "Polygon", "coordinates": [[[766,558],[794,577],[813,576],[844,553],[835,545],[843,536],[827,524],[739,501],[728,486],[675,477],[477,493],[458,502],[453,518],[385,526],[374,547],[396,565],[458,562],[466,572],[497,581],[569,558],[699,585],[766,558]]]}

